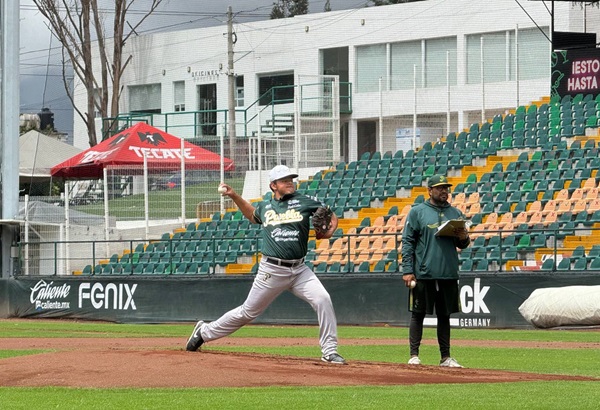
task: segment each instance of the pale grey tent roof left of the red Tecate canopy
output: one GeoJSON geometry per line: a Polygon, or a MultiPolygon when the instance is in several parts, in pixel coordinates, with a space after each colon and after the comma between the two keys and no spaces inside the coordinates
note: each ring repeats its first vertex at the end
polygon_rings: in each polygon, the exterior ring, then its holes
{"type": "Polygon", "coordinates": [[[50,179],[50,169],[82,150],[31,130],[19,137],[19,179],[50,179]]]}

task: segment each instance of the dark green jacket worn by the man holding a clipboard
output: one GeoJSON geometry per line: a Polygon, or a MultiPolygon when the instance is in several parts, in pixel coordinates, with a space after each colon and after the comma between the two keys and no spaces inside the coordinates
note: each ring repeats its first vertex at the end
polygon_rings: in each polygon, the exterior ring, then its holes
{"type": "Polygon", "coordinates": [[[458,251],[469,246],[470,240],[436,237],[438,226],[450,219],[465,219],[465,215],[450,204],[435,206],[429,200],[414,206],[402,231],[402,273],[419,279],[458,279],[458,251]]]}

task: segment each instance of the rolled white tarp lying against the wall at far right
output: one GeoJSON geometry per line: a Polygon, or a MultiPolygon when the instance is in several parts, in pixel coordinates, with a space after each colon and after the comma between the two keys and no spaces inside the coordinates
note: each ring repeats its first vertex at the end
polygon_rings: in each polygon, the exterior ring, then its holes
{"type": "Polygon", "coordinates": [[[536,289],[519,312],[541,328],[600,325],[600,286],[536,289]]]}

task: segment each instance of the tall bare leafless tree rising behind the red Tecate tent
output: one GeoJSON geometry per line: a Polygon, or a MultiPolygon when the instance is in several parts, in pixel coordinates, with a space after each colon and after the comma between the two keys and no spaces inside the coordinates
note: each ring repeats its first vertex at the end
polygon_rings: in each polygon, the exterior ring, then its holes
{"type": "MultiPolygon", "coordinates": [[[[107,18],[109,12],[99,9],[98,0],[33,0],[62,46],[63,83],[75,112],[86,125],[91,147],[98,143],[94,124],[96,112],[102,118],[109,117],[110,106],[110,117],[116,117],[119,113],[121,77],[131,60],[129,56],[123,61],[125,42],[163,0],[148,1],[150,5],[144,7],[147,10],[145,14],[135,24],[131,24],[127,20],[127,13],[136,0],[114,0],[114,12],[110,11],[114,13],[111,28],[107,18]],[[129,26],[127,34],[126,25],[129,26]],[[94,67],[93,64],[92,38],[97,41],[98,48],[95,52],[99,56],[99,67],[94,67]],[[85,88],[85,112],[75,106],[74,91],[69,87],[67,79],[69,66],[85,88]],[[100,78],[94,75],[94,71],[100,73],[100,78]],[[110,95],[109,89],[112,90],[110,95]]],[[[112,124],[110,126],[112,128],[112,124]]]]}

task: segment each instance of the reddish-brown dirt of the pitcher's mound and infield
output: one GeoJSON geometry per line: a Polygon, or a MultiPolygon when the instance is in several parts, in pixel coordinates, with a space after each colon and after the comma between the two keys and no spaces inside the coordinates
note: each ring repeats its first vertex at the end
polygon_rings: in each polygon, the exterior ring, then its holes
{"type": "MultiPolygon", "coordinates": [[[[0,386],[68,387],[258,387],[350,386],[417,383],[498,383],[542,380],[596,380],[483,369],[350,361],[347,366],[318,358],[293,358],[217,351],[186,352],[181,338],[0,339],[0,350],[50,352],[0,360],[0,386]]],[[[210,346],[301,346],[311,339],[224,338],[210,346]]],[[[434,343],[425,341],[425,343],[434,343]]],[[[404,340],[344,339],[344,345],[395,344],[404,340]]],[[[515,342],[455,341],[454,345],[516,346],[515,342]]],[[[528,343],[520,347],[594,348],[600,343],[528,343]]]]}

